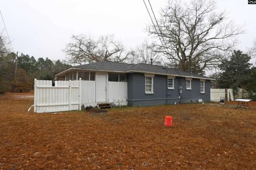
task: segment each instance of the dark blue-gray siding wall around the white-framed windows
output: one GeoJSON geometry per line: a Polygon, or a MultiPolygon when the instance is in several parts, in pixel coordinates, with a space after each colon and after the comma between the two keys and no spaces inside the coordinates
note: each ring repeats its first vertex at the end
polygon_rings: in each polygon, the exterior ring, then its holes
{"type": "Polygon", "coordinates": [[[145,75],[140,73],[127,74],[128,103],[130,106],[150,106],[159,104],[173,104],[184,102],[196,102],[198,99],[210,101],[210,80],[205,81],[205,94],[201,94],[200,80],[193,79],[191,90],[186,90],[186,79],[176,77],[174,89],[167,88],[167,76],[155,75],[154,94],[145,93],[145,75]],[[182,94],[179,99],[179,86],[182,86],[182,94]]]}

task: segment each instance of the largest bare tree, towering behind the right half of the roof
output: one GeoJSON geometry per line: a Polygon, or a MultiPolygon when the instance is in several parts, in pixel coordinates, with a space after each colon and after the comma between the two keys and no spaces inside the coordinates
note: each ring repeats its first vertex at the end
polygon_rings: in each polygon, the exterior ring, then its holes
{"type": "Polygon", "coordinates": [[[172,67],[197,74],[218,66],[243,30],[224,12],[215,10],[214,1],[169,1],[162,9],[157,31],[148,27],[150,34],[162,40],[156,44],[156,52],[167,56],[172,67]]]}

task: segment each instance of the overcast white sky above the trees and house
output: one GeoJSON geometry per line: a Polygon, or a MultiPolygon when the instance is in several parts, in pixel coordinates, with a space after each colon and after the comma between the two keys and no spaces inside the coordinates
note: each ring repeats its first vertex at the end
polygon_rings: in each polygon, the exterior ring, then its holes
{"type": "MultiPolygon", "coordinates": [[[[150,2],[158,15],[167,1],[150,2]]],[[[256,39],[256,5],[246,0],[218,0],[217,5],[231,20],[246,26],[238,45],[246,51],[256,39]]],[[[81,33],[93,37],[114,34],[129,50],[148,37],[145,28],[150,23],[142,0],[1,0],[0,10],[14,51],[36,59],[65,59],[62,50],[71,35],[81,33]]],[[[3,31],[1,20],[0,28],[3,31]]]]}

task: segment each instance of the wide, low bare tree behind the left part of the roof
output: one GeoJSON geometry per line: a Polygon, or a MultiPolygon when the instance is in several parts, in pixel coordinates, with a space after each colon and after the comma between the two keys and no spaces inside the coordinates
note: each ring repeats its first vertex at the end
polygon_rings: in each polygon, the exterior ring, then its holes
{"type": "Polygon", "coordinates": [[[74,64],[95,61],[123,62],[127,54],[121,42],[115,41],[113,35],[101,36],[97,40],[86,35],[73,35],[66,46],[67,62],[74,64]]]}

